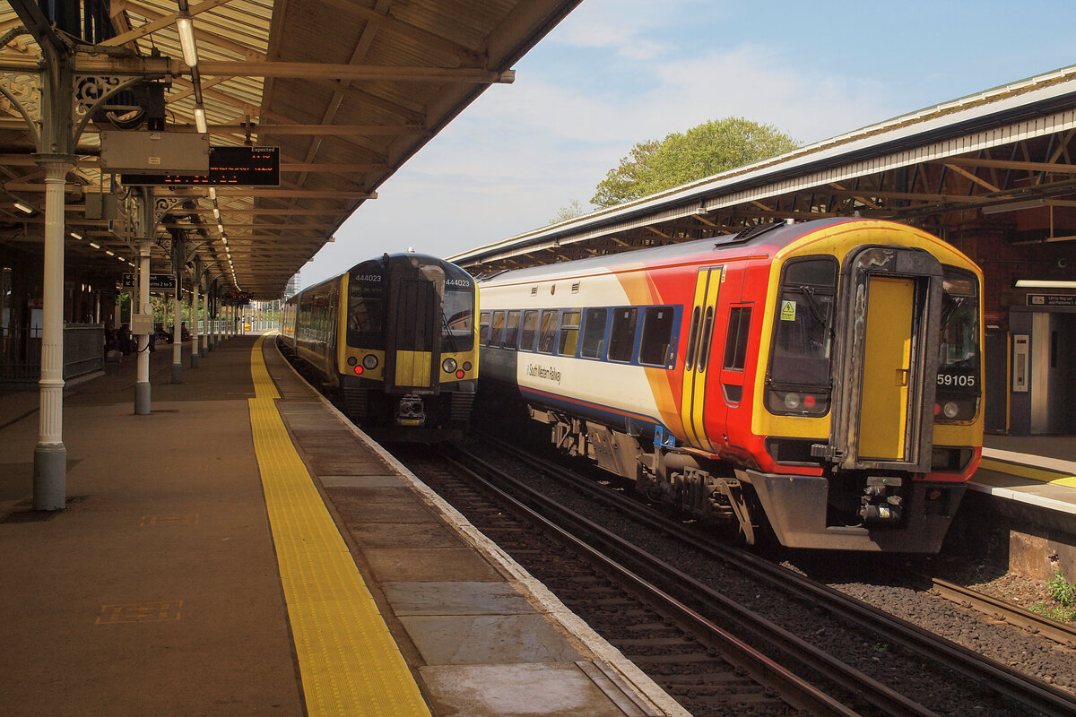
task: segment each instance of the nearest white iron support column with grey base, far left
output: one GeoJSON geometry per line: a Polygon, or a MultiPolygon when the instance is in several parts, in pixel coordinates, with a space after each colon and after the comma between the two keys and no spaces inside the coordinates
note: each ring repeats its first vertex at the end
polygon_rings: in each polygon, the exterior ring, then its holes
{"type": "Polygon", "coordinates": [[[63,183],[72,155],[33,156],[45,171],[45,275],[41,340],[41,415],[33,450],[33,510],[67,507],[63,445],[63,183]]]}

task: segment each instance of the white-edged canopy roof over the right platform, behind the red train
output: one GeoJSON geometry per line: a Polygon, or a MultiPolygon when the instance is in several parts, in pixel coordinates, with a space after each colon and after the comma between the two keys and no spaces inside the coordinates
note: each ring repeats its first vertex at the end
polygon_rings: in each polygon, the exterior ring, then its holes
{"type": "Polygon", "coordinates": [[[1074,138],[1076,67],[1068,67],[449,258],[486,274],[759,224],[861,216],[958,243],[990,240],[1004,254],[994,260],[1034,255],[1072,278],[1074,138]]]}

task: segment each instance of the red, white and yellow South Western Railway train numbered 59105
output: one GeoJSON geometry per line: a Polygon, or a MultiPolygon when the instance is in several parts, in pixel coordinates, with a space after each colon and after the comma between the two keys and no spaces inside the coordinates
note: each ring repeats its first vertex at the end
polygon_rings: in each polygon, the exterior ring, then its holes
{"type": "Polygon", "coordinates": [[[478,278],[480,395],[565,453],[748,544],[940,549],[983,367],[982,273],[937,236],[762,224],[478,278]]]}

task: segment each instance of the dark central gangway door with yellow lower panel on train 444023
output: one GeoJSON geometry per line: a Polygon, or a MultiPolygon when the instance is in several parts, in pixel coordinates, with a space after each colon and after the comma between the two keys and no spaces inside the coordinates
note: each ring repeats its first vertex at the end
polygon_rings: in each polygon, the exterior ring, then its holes
{"type": "Polygon", "coordinates": [[[385,388],[396,392],[430,392],[440,363],[443,272],[437,267],[400,262],[388,278],[385,388]],[[440,273],[431,276],[429,270],[440,273]]]}

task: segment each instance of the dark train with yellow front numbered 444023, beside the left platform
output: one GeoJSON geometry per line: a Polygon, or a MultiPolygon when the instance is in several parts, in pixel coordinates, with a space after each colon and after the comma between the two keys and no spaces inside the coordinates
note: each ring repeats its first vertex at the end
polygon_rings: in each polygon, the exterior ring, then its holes
{"type": "Polygon", "coordinates": [[[454,263],[385,254],[288,299],[279,341],[372,438],[458,440],[478,382],[477,306],[454,263]]]}

